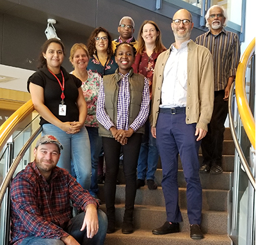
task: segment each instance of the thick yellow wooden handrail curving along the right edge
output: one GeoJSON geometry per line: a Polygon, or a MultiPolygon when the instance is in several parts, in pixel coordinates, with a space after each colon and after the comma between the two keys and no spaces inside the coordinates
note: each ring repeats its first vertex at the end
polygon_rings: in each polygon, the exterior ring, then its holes
{"type": "Polygon", "coordinates": [[[250,57],[255,51],[255,38],[253,38],[252,42],[248,45],[244,54],[241,58],[241,61],[237,67],[236,74],[236,100],[237,107],[239,111],[239,115],[241,117],[244,130],[248,138],[250,139],[251,144],[255,148],[255,119],[253,118],[252,111],[249,107],[246,91],[245,91],[245,73],[250,57]]]}

